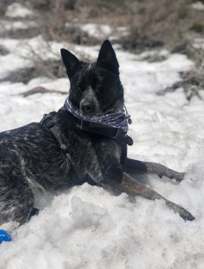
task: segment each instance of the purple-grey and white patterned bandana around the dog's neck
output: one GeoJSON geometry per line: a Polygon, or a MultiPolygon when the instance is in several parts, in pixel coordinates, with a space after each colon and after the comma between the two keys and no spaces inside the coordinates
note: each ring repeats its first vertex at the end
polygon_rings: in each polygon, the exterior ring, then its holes
{"type": "Polygon", "coordinates": [[[73,104],[68,100],[68,98],[65,100],[64,107],[67,111],[69,111],[71,114],[73,114],[80,120],[101,123],[110,127],[121,128],[125,132],[128,131],[127,120],[123,109],[120,109],[119,111],[111,114],[86,117],[83,116],[81,112],[73,106],[73,104]]]}

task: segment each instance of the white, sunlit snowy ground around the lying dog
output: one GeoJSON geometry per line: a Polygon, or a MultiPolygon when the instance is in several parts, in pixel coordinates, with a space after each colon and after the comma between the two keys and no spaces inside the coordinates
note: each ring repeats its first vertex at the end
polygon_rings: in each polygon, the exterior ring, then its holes
{"type": "MultiPolygon", "coordinates": [[[[39,40],[28,42],[36,49],[39,40]]],[[[19,40],[0,41],[11,52],[0,56],[0,78],[30,64],[17,55],[25,52],[19,40]]],[[[56,51],[61,47],[85,51],[93,58],[100,48],[52,46],[56,51]]],[[[180,184],[155,175],[137,179],[185,207],[196,219],[185,222],[162,200],[116,195],[85,183],[50,199],[38,216],[12,233],[12,242],[0,245],[1,269],[204,268],[204,105],[197,97],[187,101],[182,88],[164,96],[156,94],[193,65],[185,55],[161,53],[166,60],[148,63],[116,50],[133,121],[128,134],[134,144],[128,147],[128,156],[187,171],[180,184]]],[[[28,85],[0,83],[0,131],[39,122],[43,114],[63,105],[67,93],[18,95],[36,86],[68,93],[69,81],[38,78],[28,85]]],[[[204,98],[204,91],[199,94],[204,98]]]]}

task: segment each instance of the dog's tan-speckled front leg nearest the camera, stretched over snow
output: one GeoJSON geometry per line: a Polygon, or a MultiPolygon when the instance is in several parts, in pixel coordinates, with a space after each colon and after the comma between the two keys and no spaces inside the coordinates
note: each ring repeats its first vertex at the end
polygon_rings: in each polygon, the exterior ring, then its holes
{"type": "Polygon", "coordinates": [[[103,184],[109,187],[112,187],[116,190],[120,190],[122,192],[126,192],[127,194],[132,195],[141,195],[147,199],[155,200],[155,199],[164,199],[168,208],[173,209],[175,213],[179,213],[179,215],[185,220],[194,220],[195,218],[189,213],[185,208],[174,204],[171,201],[168,201],[163,196],[158,194],[155,190],[139,183],[137,180],[133,179],[131,176],[123,173],[122,179],[118,182],[114,181],[114,184],[103,184]]]}

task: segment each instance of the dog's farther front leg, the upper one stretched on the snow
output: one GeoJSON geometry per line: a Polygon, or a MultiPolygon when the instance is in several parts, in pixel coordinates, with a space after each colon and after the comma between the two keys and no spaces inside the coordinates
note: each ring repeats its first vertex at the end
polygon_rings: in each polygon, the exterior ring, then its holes
{"type": "Polygon", "coordinates": [[[172,169],[169,169],[159,163],[155,162],[141,162],[133,159],[126,159],[125,165],[123,166],[123,170],[127,174],[156,174],[160,178],[162,176],[166,176],[170,179],[174,178],[176,181],[180,182],[183,178],[185,173],[179,173],[172,169]]]}

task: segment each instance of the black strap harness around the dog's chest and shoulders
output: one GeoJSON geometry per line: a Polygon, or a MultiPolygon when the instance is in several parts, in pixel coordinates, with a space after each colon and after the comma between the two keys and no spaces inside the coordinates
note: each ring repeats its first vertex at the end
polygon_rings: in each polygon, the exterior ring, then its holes
{"type": "MultiPolygon", "coordinates": [[[[123,166],[125,163],[125,160],[127,158],[127,144],[128,144],[128,139],[130,137],[127,136],[127,134],[121,129],[121,128],[114,128],[114,127],[109,127],[100,123],[94,123],[90,121],[84,121],[80,120],[77,117],[73,116],[69,111],[65,110],[64,107],[61,107],[58,112],[63,111],[65,113],[65,117],[71,117],[74,119],[80,126],[81,131],[86,131],[86,132],[91,132],[95,134],[102,134],[104,136],[108,136],[110,138],[113,138],[115,141],[117,141],[121,145],[121,165],[123,166]]],[[[84,182],[88,182],[92,185],[95,185],[94,181],[88,176],[84,175],[82,171],[76,166],[74,160],[70,156],[69,152],[67,151],[67,146],[62,143],[62,141],[59,138],[58,131],[56,128],[56,123],[53,120],[53,117],[58,113],[56,111],[50,112],[49,114],[45,114],[40,121],[40,124],[45,126],[48,130],[52,131],[54,136],[56,137],[57,141],[60,144],[60,147],[63,151],[63,153],[66,155],[68,158],[73,171],[73,175],[71,176],[71,180],[73,184],[81,185],[84,182]]],[[[128,144],[129,145],[129,144],[128,144]]]]}

